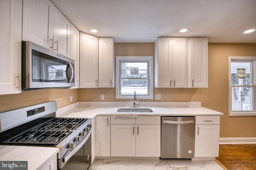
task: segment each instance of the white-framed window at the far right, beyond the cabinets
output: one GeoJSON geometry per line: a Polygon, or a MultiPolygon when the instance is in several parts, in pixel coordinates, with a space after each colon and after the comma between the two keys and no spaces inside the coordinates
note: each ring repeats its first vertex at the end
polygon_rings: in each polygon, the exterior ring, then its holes
{"type": "Polygon", "coordinates": [[[229,115],[256,115],[256,57],[229,57],[229,115]]]}

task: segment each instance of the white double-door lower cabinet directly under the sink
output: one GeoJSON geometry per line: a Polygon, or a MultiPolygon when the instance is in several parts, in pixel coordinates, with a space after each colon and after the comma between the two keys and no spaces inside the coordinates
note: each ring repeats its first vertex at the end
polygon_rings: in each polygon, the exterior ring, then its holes
{"type": "Polygon", "coordinates": [[[160,116],[139,116],[136,119],[111,117],[111,156],[159,157],[160,135],[160,116]]]}

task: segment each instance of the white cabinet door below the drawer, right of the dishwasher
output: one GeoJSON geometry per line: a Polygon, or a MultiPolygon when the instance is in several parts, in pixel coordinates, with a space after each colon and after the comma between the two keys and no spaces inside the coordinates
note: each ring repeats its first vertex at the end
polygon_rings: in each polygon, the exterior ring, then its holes
{"type": "Polygon", "coordinates": [[[196,125],[195,157],[219,156],[220,125],[196,125]]]}

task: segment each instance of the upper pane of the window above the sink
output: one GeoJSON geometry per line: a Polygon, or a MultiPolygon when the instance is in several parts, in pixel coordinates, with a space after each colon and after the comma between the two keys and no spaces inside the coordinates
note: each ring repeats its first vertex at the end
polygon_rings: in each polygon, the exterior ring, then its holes
{"type": "Polygon", "coordinates": [[[122,78],[148,77],[148,63],[122,62],[122,78]]]}

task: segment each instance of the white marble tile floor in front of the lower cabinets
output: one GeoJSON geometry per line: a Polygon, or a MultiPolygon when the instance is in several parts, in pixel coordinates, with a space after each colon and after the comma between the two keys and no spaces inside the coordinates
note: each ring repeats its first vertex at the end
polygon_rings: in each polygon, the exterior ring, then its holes
{"type": "Polygon", "coordinates": [[[92,170],[223,170],[214,160],[97,159],[92,170]]]}

